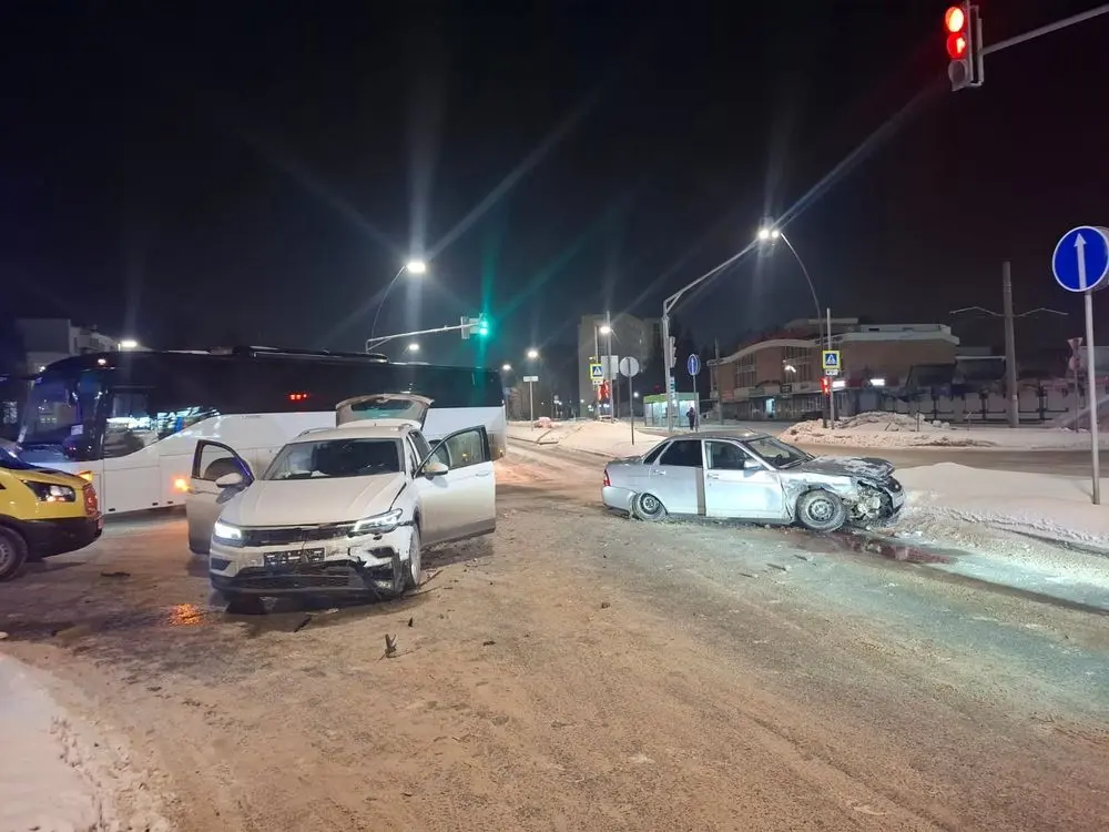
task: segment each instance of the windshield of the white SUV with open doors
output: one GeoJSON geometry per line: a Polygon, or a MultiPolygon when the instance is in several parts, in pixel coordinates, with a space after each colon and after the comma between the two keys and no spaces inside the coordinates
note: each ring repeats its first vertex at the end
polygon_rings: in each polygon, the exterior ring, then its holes
{"type": "Polygon", "coordinates": [[[334,479],[399,474],[397,439],[324,439],[286,445],[263,479],[334,479]]]}

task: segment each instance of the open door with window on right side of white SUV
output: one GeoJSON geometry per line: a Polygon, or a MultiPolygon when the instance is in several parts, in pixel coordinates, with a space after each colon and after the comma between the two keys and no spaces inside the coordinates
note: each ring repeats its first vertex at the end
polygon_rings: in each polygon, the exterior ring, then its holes
{"type": "Polygon", "coordinates": [[[462,540],[497,529],[497,478],[485,427],[456,430],[436,443],[416,469],[414,485],[419,490],[425,544],[462,540]]]}

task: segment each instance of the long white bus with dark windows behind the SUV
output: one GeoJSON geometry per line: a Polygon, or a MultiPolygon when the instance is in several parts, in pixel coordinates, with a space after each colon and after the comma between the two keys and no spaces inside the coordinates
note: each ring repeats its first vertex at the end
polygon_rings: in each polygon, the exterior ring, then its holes
{"type": "Polygon", "coordinates": [[[375,393],[426,396],[433,400],[427,438],[484,425],[492,458],[505,455],[505,392],[496,371],[269,347],[55,362],[31,383],[19,453],[90,479],[105,514],[181,506],[199,440],[227,445],[262,470],[293,437],[334,427],[340,402],[375,393]]]}

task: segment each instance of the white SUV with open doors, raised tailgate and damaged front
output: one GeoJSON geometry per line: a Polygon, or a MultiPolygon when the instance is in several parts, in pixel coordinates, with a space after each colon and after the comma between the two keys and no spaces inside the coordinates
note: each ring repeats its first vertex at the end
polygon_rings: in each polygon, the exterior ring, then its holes
{"type": "Polygon", "coordinates": [[[197,444],[190,539],[211,539],[212,586],[231,605],[257,608],[288,593],[399,597],[420,581],[424,546],[496,529],[485,428],[431,447],[421,418],[358,415],[359,405],[395,409],[400,399],[411,415],[430,405],[417,396],[344,402],[336,428],[296,437],[258,477],[226,445],[197,444]]]}

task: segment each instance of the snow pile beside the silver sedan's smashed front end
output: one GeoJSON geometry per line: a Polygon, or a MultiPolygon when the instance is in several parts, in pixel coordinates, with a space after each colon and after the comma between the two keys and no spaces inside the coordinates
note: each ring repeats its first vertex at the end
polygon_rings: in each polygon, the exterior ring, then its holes
{"type": "MultiPolygon", "coordinates": [[[[1090,501],[1089,479],[968,468],[955,463],[903,468],[906,508],[899,534],[988,548],[990,529],[1015,531],[1105,549],[1109,555],[1109,511],[1090,501]]],[[[1102,489],[1109,480],[1102,480],[1102,489]]]]}

